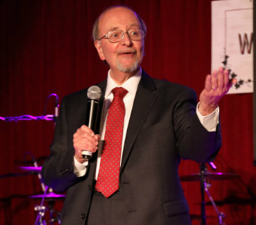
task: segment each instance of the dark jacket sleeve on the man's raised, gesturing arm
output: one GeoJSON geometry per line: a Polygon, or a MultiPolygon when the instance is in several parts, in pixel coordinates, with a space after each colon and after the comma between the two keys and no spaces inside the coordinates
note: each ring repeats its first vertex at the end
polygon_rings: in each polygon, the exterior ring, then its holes
{"type": "Polygon", "coordinates": [[[176,145],[182,158],[212,161],[221,147],[221,127],[218,124],[215,132],[207,131],[195,113],[196,104],[194,90],[186,89],[180,94],[173,114],[176,145]]]}

